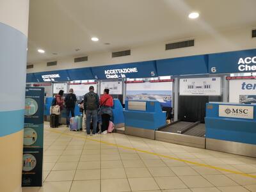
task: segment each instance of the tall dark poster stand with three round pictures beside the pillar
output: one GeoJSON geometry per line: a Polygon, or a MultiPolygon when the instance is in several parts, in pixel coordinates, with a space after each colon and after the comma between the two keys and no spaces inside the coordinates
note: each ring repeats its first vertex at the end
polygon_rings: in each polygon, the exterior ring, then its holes
{"type": "Polygon", "coordinates": [[[22,187],[42,186],[44,88],[27,87],[22,158],[22,187]]]}

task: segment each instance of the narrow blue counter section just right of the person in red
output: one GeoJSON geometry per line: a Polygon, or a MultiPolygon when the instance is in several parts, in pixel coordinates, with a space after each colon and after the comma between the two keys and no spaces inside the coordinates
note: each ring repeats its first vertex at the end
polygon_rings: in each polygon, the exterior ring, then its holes
{"type": "Polygon", "coordinates": [[[119,99],[113,99],[113,123],[115,124],[115,128],[124,127],[124,109],[119,99]]]}

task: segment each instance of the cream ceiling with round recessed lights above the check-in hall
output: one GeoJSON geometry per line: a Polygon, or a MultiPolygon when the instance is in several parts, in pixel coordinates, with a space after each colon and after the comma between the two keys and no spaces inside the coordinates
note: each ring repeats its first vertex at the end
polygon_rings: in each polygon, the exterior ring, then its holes
{"type": "Polygon", "coordinates": [[[253,28],[255,7],[255,0],[31,0],[28,63],[253,28]],[[196,20],[188,19],[193,11],[196,20]]]}

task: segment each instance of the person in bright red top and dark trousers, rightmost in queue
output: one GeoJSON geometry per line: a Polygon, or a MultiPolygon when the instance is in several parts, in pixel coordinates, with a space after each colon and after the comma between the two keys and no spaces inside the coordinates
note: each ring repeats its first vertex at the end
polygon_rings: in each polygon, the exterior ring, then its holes
{"type": "Polygon", "coordinates": [[[102,118],[101,131],[107,133],[109,120],[112,115],[113,98],[109,95],[109,89],[104,89],[104,94],[100,97],[100,114],[102,118]]]}

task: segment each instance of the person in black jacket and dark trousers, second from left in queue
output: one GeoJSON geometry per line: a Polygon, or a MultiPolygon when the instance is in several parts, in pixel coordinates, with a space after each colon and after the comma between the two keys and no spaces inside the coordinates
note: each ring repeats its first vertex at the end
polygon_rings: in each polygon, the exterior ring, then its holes
{"type": "Polygon", "coordinates": [[[65,106],[66,106],[66,110],[67,110],[67,127],[69,127],[70,124],[70,112],[71,112],[71,116],[74,117],[75,116],[75,108],[76,108],[76,95],[74,94],[74,90],[72,88],[70,88],[69,93],[66,95],[65,99],[65,106]]]}

